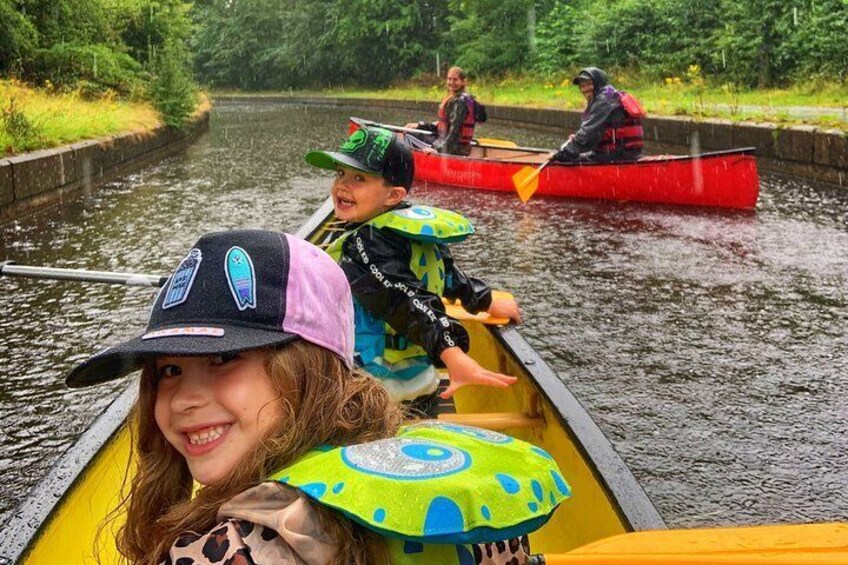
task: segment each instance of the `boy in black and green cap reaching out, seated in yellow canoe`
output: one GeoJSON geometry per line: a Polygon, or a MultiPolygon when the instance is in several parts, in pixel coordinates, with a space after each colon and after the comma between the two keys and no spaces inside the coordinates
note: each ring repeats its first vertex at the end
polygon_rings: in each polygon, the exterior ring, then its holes
{"type": "Polygon", "coordinates": [[[312,151],[306,161],[336,171],[331,193],[344,230],[327,251],[353,290],[359,364],[398,400],[432,401],[434,363],[448,371],[443,398],[466,385],[515,382],[469,357],[467,332],[445,313],[442,297],[460,299],[472,313],[521,321],[514,300],[494,299],[483,281],[454,264],[447,244],[473,233],[468,220],[406,202],[415,173],[409,147],[385,129],[361,128],[338,152],[312,151]]]}

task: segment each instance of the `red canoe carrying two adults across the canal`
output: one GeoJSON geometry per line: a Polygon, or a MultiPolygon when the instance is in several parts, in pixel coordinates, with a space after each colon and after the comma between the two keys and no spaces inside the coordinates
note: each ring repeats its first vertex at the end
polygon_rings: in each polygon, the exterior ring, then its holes
{"type": "MultiPolygon", "coordinates": [[[[357,122],[373,123],[352,118],[351,129],[356,129],[357,122]]],[[[470,156],[460,157],[414,147],[415,180],[514,192],[513,175],[525,167],[541,165],[550,153],[531,147],[478,143],[470,156]]],[[[552,163],[539,175],[535,194],[752,209],[760,190],[754,153],[755,149],[749,147],[693,156],[649,156],[635,163],[552,163]]]]}

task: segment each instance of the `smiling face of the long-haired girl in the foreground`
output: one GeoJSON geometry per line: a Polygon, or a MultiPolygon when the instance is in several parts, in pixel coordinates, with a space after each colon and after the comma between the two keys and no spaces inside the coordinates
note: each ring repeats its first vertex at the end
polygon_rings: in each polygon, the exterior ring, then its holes
{"type": "Polygon", "coordinates": [[[224,480],[283,417],[266,354],[161,357],[154,415],[197,482],[224,480]]]}

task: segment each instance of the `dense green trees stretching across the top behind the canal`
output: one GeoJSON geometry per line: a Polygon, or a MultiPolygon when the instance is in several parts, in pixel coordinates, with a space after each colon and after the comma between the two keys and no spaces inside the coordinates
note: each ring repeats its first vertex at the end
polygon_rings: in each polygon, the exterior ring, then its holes
{"type": "Polygon", "coordinates": [[[0,0],[0,74],[180,99],[215,88],[381,87],[443,73],[744,87],[848,73],[848,0],[0,0]]]}

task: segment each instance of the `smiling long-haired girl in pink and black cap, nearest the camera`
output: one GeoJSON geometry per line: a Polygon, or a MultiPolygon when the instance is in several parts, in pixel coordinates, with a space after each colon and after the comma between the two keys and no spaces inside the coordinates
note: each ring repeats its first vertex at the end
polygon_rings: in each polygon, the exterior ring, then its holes
{"type": "Polygon", "coordinates": [[[115,514],[127,560],[482,562],[509,546],[489,542],[538,528],[569,495],[530,444],[436,423],[399,430],[352,345],[349,285],[323,251],[275,232],[203,236],[146,331],[67,377],[79,387],[142,371],[128,422],[136,468],[115,514]],[[502,496],[507,480],[542,498],[530,509],[502,496]]]}

